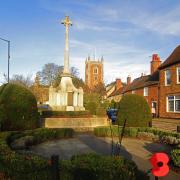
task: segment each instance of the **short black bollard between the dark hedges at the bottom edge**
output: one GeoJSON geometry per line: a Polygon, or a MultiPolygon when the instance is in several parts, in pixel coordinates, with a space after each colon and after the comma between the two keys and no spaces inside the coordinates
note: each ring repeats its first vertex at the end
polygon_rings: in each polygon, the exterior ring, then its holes
{"type": "Polygon", "coordinates": [[[52,163],[52,179],[59,180],[59,156],[52,155],[51,156],[51,163],[52,163]]]}

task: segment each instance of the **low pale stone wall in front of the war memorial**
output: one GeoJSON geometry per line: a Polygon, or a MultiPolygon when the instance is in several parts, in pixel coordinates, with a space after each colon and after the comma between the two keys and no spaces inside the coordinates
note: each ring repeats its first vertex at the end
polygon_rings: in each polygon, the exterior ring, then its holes
{"type": "Polygon", "coordinates": [[[94,128],[97,126],[107,126],[106,117],[92,118],[45,118],[44,126],[46,128],[94,128]]]}

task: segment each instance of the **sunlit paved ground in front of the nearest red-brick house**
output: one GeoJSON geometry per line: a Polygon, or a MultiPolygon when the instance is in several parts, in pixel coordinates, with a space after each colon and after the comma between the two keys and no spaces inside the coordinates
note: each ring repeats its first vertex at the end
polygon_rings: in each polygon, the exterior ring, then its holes
{"type": "Polygon", "coordinates": [[[180,119],[162,119],[156,118],[152,121],[152,126],[158,129],[163,129],[167,131],[177,131],[177,125],[180,126],[180,119]]]}

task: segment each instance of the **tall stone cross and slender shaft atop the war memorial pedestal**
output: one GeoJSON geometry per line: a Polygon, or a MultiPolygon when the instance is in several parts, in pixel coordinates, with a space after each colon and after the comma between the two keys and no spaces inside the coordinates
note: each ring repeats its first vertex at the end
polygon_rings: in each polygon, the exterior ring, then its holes
{"type": "Polygon", "coordinates": [[[69,26],[72,26],[72,22],[69,19],[69,16],[66,16],[65,19],[61,22],[66,28],[65,32],[65,50],[64,50],[64,74],[69,74],[69,26]]]}

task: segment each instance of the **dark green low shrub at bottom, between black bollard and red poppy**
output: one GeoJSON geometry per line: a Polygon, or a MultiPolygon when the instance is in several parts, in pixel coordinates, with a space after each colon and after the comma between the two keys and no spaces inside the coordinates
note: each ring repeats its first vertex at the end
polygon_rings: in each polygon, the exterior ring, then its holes
{"type": "Polygon", "coordinates": [[[63,180],[133,180],[136,179],[137,166],[123,157],[85,154],[62,161],[61,170],[63,180]]]}

